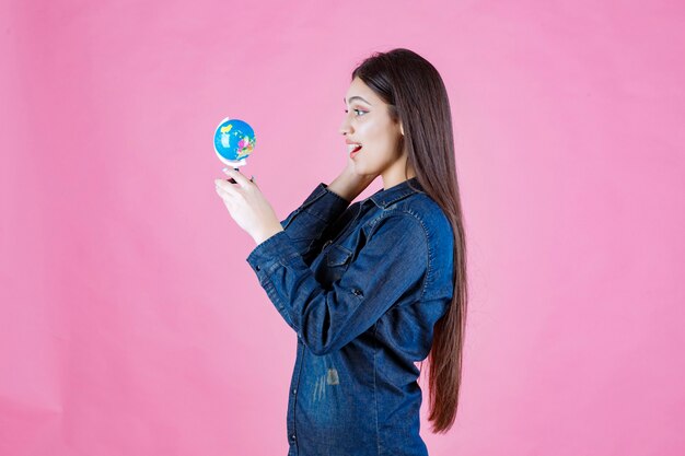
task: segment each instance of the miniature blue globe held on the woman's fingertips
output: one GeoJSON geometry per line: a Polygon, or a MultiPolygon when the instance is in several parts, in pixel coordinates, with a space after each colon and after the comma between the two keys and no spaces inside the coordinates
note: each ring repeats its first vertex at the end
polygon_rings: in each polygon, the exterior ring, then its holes
{"type": "Polygon", "coordinates": [[[237,167],[255,149],[255,131],[249,124],[239,119],[221,120],[214,131],[214,151],[221,162],[237,167]]]}

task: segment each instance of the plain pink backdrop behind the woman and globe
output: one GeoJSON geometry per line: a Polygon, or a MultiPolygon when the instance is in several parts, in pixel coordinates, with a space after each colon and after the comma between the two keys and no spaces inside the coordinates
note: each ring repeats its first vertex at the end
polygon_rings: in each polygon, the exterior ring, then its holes
{"type": "Polygon", "coordinates": [[[431,455],[684,454],[684,22],[682,1],[3,1],[0,455],[286,454],[295,338],[211,137],[255,127],[243,173],[282,219],[344,167],[349,73],[393,47],[445,81],[468,234],[461,408],[446,435],[423,421],[431,455]]]}

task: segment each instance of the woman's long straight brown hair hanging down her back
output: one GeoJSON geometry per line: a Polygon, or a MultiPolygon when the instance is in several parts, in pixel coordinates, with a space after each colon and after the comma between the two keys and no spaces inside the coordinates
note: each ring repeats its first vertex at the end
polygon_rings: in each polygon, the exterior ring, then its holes
{"type": "MultiPolygon", "coordinates": [[[[462,381],[466,327],[466,242],[454,163],[454,135],[448,92],[438,70],[404,48],[373,52],[353,71],[402,121],[407,166],[413,166],[423,190],[440,206],[454,234],[454,294],[436,323],[429,363],[429,421],[433,433],[444,433],[456,418],[462,381]]],[[[405,169],[406,171],[406,169],[405,169]]],[[[422,362],[421,362],[422,364],[422,362]]]]}

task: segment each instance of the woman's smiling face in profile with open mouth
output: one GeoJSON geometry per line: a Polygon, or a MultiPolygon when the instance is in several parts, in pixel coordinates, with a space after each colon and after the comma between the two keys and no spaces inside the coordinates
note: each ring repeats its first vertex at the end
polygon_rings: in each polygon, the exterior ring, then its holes
{"type": "MultiPolygon", "coordinates": [[[[345,95],[345,120],[340,133],[347,143],[361,144],[351,156],[358,174],[385,175],[404,168],[405,154],[399,150],[402,127],[393,121],[384,103],[361,79],[355,78],[345,95]]],[[[353,145],[348,148],[348,154],[353,145]]]]}

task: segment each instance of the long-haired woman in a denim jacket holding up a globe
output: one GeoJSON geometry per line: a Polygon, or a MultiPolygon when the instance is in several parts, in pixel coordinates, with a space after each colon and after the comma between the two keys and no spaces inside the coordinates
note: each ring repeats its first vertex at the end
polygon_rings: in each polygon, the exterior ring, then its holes
{"type": "Polygon", "coordinates": [[[257,246],[247,257],[298,334],[289,455],[427,455],[416,362],[429,361],[433,432],[454,423],[466,315],[465,242],[450,105],[407,49],[352,72],[349,160],[285,221],[253,179],[217,180],[257,246]],[[383,189],[350,202],[378,176],[383,189]]]}

